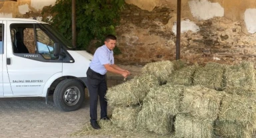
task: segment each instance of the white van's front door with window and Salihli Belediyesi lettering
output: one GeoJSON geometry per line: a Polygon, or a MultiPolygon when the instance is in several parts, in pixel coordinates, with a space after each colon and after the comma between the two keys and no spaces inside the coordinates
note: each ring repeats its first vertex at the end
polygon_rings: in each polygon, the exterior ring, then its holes
{"type": "Polygon", "coordinates": [[[8,21],[7,65],[13,96],[41,96],[47,80],[62,72],[55,39],[37,23],[8,21]]]}

